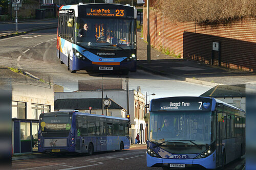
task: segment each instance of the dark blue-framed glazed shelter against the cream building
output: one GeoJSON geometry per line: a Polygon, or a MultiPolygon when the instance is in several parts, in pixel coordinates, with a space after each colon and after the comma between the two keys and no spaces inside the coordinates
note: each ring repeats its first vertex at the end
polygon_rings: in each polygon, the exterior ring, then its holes
{"type": "Polygon", "coordinates": [[[37,152],[39,120],[12,118],[12,148],[14,154],[37,152]]]}

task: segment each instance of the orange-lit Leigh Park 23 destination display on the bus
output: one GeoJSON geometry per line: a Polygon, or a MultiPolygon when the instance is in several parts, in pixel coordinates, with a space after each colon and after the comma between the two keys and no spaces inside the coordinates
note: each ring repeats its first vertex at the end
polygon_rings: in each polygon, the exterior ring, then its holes
{"type": "Polygon", "coordinates": [[[125,9],[87,8],[86,16],[126,17],[125,9]]]}

